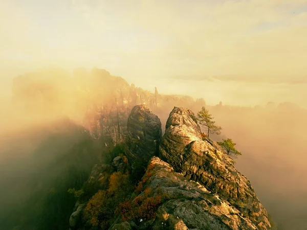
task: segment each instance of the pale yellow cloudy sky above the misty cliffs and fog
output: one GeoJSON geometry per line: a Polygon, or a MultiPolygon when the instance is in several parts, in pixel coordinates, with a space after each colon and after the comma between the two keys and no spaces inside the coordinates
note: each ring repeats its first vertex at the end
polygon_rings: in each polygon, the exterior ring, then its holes
{"type": "Polygon", "coordinates": [[[0,0],[0,94],[44,66],[160,93],[307,107],[307,0],[0,0]]]}

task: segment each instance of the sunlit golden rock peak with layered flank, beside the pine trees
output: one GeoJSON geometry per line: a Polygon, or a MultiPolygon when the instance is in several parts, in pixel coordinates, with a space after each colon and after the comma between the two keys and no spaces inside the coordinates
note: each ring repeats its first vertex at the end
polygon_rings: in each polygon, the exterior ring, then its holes
{"type": "MultiPolygon", "coordinates": [[[[216,143],[202,139],[200,126],[189,109],[174,107],[171,111],[160,145],[160,156],[176,172],[201,183],[204,188],[236,210],[234,213],[239,217],[233,223],[236,222],[237,227],[232,229],[240,229],[238,223],[243,219],[249,223],[246,225],[249,228],[243,229],[270,228],[267,212],[254,193],[250,181],[237,171],[232,158],[221,152],[216,143]]],[[[191,210],[194,210],[192,206],[191,210]]],[[[225,215],[231,217],[232,213],[225,215]]],[[[224,225],[212,229],[228,229],[222,226],[224,225]]]]}

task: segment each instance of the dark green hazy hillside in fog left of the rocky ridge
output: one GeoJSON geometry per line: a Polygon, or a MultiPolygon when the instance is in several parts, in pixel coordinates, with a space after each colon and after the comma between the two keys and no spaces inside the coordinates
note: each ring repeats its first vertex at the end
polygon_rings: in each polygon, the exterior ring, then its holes
{"type": "Polygon", "coordinates": [[[22,131],[1,151],[13,156],[0,163],[2,229],[68,227],[75,200],[67,191],[83,184],[101,147],[68,119],[22,131]]]}

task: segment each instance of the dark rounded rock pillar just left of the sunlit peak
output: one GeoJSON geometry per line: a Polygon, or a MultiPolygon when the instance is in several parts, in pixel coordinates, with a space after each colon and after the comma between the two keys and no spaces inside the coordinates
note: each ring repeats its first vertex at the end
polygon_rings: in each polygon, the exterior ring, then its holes
{"type": "Polygon", "coordinates": [[[144,166],[159,154],[162,139],[160,119],[146,105],[136,105],[128,118],[126,155],[129,162],[139,160],[144,166]]]}

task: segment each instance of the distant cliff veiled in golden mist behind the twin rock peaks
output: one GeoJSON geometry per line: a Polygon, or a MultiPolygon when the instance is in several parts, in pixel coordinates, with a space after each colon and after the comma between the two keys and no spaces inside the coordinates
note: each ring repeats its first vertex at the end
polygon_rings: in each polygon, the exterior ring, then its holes
{"type": "Polygon", "coordinates": [[[15,120],[19,114],[39,119],[64,114],[82,123],[94,139],[108,136],[114,144],[125,141],[127,119],[137,104],[146,104],[163,120],[173,105],[204,104],[203,99],[195,102],[188,96],[160,95],[158,89],[151,93],[99,68],[79,68],[72,75],[60,68],[38,70],[15,78],[12,92],[15,120]]]}

